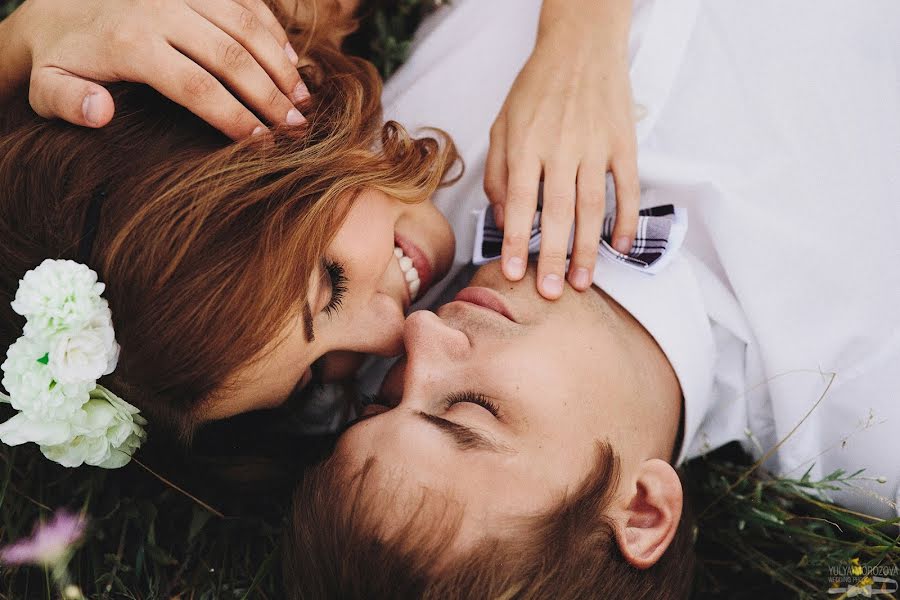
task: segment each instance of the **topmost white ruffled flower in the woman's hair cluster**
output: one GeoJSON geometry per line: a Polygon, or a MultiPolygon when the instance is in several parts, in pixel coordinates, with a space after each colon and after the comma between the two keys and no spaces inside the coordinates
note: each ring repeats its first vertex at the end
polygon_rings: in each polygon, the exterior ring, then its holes
{"type": "Polygon", "coordinates": [[[105,286],[86,265],[71,260],[47,259],[25,274],[12,308],[28,319],[25,335],[50,337],[81,327],[100,310],[107,309],[100,298],[105,286]]]}

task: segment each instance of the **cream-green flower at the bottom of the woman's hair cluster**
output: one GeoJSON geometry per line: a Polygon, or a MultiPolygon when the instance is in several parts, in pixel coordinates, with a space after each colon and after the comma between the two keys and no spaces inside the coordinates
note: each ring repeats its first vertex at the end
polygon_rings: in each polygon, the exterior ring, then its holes
{"type": "Polygon", "coordinates": [[[66,467],[82,464],[117,469],[146,439],[147,421],[138,409],[106,388],[97,386],[73,421],[73,437],[61,444],[42,445],[41,452],[66,467]]]}

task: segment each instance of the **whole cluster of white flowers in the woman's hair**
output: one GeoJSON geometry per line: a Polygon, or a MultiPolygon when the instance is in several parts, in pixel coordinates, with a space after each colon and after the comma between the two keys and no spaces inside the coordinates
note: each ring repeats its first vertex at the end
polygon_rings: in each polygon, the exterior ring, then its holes
{"type": "Polygon", "coordinates": [[[45,260],[19,283],[13,310],[24,335],[10,346],[2,384],[18,412],[0,424],[0,441],[34,442],[52,461],[114,469],[146,439],[147,422],[97,380],[116,368],[112,313],[97,274],[70,260],[45,260]]]}

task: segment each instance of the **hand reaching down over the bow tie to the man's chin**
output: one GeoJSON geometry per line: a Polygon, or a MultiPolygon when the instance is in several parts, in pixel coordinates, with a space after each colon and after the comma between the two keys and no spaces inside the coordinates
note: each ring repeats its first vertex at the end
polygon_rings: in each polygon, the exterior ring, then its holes
{"type": "Polygon", "coordinates": [[[484,189],[504,229],[503,273],[512,281],[525,273],[543,174],[537,281],[538,291],[551,300],[562,294],[573,220],[569,282],[579,290],[591,285],[607,170],[616,182],[617,250],[631,248],[637,228],[640,187],[627,53],[630,2],[584,8],[588,4],[545,0],[535,49],[491,128],[485,170],[484,189]],[[604,10],[608,12],[598,13],[604,10]]]}

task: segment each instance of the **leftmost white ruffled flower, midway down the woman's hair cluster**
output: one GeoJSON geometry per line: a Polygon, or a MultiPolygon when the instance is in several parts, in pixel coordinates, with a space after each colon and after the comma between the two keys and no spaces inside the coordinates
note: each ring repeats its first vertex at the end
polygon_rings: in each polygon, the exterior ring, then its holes
{"type": "Polygon", "coordinates": [[[9,347],[3,369],[3,387],[13,408],[33,420],[60,421],[71,417],[90,399],[94,381],[61,383],[48,366],[46,350],[34,340],[19,338],[9,347]]]}

